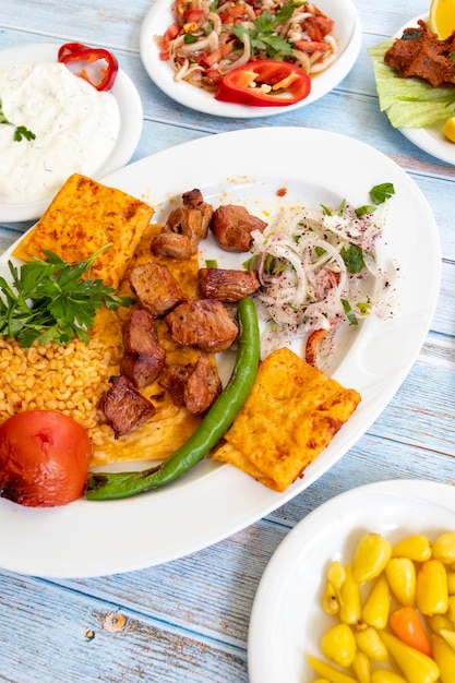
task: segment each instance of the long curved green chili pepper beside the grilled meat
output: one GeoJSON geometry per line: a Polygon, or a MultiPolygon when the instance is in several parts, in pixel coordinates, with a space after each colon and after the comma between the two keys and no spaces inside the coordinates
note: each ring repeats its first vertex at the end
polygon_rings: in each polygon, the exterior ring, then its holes
{"type": "Polygon", "coordinates": [[[85,496],[91,501],[129,498],[173,481],[200,463],[231,426],[254,383],[260,357],[259,326],[254,303],[238,303],[241,337],[232,375],[192,436],[158,467],[142,471],[92,472],[85,496]]]}

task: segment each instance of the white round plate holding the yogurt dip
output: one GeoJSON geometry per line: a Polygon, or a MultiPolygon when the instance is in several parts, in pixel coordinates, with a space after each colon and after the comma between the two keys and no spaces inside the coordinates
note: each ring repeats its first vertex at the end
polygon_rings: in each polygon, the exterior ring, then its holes
{"type": "MultiPolygon", "coordinates": [[[[60,45],[37,44],[22,45],[0,51],[0,68],[9,64],[25,64],[33,62],[55,62],[60,45]]],[[[120,110],[120,132],[109,157],[104,161],[94,178],[103,178],[118,170],[132,157],[142,132],[142,101],[131,79],[119,69],[116,82],[111,89],[120,110]]],[[[39,218],[48,206],[52,196],[39,202],[24,204],[0,203],[0,221],[16,223],[20,220],[35,220],[39,218]]]]}

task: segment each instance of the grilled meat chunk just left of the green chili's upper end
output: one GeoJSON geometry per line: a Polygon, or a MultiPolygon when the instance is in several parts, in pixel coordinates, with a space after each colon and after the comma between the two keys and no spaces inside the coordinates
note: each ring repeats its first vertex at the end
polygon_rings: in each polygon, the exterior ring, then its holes
{"type": "Polygon", "coordinates": [[[216,299],[180,303],[165,321],[176,344],[214,354],[229,348],[238,333],[236,323],[216,299]]]}

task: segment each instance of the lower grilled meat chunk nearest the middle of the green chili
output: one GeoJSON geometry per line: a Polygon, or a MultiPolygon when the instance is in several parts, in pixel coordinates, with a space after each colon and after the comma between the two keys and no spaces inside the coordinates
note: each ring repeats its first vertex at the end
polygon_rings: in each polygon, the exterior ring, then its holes
{"type": "Polygon", "coordinates": [[[168,390],[176,406],[184,406],[194,415],[206,412],[223,391],[218,371],[204,352],[194,366],[169,366],[160,384],[168,390]]]}

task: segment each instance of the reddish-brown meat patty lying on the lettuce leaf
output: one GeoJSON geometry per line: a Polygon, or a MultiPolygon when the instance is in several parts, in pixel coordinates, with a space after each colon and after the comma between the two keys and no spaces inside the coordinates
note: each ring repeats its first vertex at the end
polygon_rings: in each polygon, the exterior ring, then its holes
{"type": "Polygon", "coordinates": [[[433,87],[455,86],[455,32],[445,40],[431,33],[427,23],[418,28],[405,28],[384,55],[384,62],[396,69],[400,76],[418,76],[433,87]]]}

